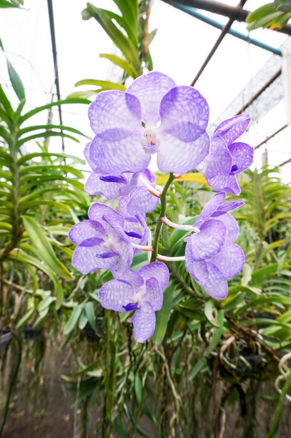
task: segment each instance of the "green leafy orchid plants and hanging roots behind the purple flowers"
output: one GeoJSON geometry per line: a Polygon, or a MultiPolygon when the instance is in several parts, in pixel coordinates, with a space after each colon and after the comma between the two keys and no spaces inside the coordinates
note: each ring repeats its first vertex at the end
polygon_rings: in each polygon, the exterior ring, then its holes
{"type": "MultiPolygon", "coordinates": [[[[280,182],[277,169],[249,170],[241,182],[245,205],[235,216],[246,265],[229,282],[227,299],[210,298],[183,263],[170,263],[156,331],[143,345],[134,342],[127,314],[99,304],[98,289],[110,273],[84,276],[72,268],[68,231],[87,217],[92,199],[80,182],[77,165],[82,160],[50,152],[49,139],[83,144],[86,139],[72,127],[35,125],[34,117],[58,105],[88,105],[88,97],[124,90],[129,76],[153,68],[148,46],[155,32],[147,30],[148,3],[115,3],[118,15],[87,3],[82,16],[96,20],[119,49],[118,56],[102,56],[122,67],[121,83],[84,79],[76,86],[97,89],[77,90],[63,101],[25,112],[21,79],[7,60],[18,105],[14,108],[0,88],[0,325],[3,334],[10,333],[0,352],[0,435],[7,416],[6,432],[11,427],[9,407],[24,408],[28,416],[45,409],[41,387],[48,380],[50,355],[66,352],[70,366],[62,381],[70,394],[76,436],[288,436],[288,406],[284,394],[275,392],[274,381],[278,361],[291,346],[291,189],[280,182]],[[31,141],[35,152],[25,153],[31,141]],[[27,333],[38,337],[33,347],[27,333]]],[[[19,4],[0,1],[1,7],[19,4]]],[[[200,182],[199,175],[189,174],[172,183],[171,220],[179,212],[191,223],[199,214],[212,196],[200,182]]],[[[153,219],[149,215],[149,224],[153,219]]],[[[183,254],[184,237],[183,231],[164,228],[161,253],[183,254]]],[[[144,263],[144,254],[136,256],[133,269],[144,263]]]]}

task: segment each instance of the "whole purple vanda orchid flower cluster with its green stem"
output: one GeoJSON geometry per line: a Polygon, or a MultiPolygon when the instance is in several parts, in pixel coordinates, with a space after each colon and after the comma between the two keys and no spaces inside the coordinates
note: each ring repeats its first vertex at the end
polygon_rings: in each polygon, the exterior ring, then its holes
{"type": "Polygon", "coordinates": [[[111,270],[114,279],[100,288],[100,303],[106,309],[134,312],[131,321],[138,342],[154,333],[163,291],[171,273],[173,278],[177,274],[174,262],[185,261],[191,277],[218,300],[227,296],[227,280],[244,266],[243,251],[235,243],[239,227],[230,214],[243,202],[225,201],[225,192],[240,193],[236,174],[252,164],[253,148],[235,142],[250,118],[241,114],[225,120],[210,142],[208,114],[199,91],[177,86],[158,72],[138,77],[126,92],[100,92],[89,107],[95,136],[84,151],[92,169],[85,190],[109,201],[119,198],[119,211],[100,202],[91,205],[89,219],[69,233],[76,245],[72,263],[83,274],[111,270]],[[169,173],[162,188],[148,169],[153,154],[159,170],[169,173]],[[219,193],[206,202],[193,225],[179,225],[166,217],[167,191],[177,176],[197,166],[203,167],[207,182],[219,193]],[[156,210],[152,238],[145,214],[156,210]],[[166,254],[171,253],[171,238],[166,228],[161,241],[163,226],[183,230],[178,256],[166,254]],[[163,254],[158,253],[160,248],[163,254]],[[130,269],[132,259],[141,251],[147,253],[147,262],[135,272],[130,269]]]}

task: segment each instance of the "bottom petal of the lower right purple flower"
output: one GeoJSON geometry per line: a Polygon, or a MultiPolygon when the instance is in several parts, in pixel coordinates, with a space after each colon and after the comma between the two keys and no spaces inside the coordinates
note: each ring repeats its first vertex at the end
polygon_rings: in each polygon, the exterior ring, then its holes
{"type": "Polygon", "coordinates": [[[210,262],[207,262],[208,278],[205,282],[198,282],[208,295],[216,300],[224,300],[227,297],[227,280],[222,272],[210,262]]]}

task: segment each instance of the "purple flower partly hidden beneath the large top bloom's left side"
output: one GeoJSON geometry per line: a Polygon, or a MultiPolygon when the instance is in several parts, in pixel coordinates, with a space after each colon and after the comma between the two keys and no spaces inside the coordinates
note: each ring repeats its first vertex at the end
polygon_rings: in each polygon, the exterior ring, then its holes
{"type": "Polygon", "coordinates": [[[90,195],[104,195],[109,201],[128,195],[136,187],[140,174],[127,172],[118,176],[109,175],[90,160],[89,147],[90,143],[85,146],[84,156],[93,172],[85,183],[85,191],[90,195]]]}

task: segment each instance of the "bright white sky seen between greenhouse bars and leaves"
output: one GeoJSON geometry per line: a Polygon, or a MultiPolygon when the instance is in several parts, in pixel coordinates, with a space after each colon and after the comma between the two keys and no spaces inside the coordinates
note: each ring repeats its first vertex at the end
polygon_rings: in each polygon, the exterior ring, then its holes
{"type": "MultiPolygon", "coordinates": [[[[92,0],[98,7],[112,9],[110,0],[92,0]]],[[[236,5],[238,0],[224,0],[236,5]]],[[[248,0],[245,9],[254,10],[266,3],[265,0],[248,0]]],[[[54,88],[54,65],[46,0],[24,0],[25,10],[0,10],[0,37],[7,55],[22,78],[26,89],[27,109],[51,101],[54,88]]],[[[59,67],[61,96],[66,97],[75,91],[74,83],[80,79],[112,79],[118,70],[112,64],[98,57],[99,53],[114,53],[116,49],[96,20],[83,21],[81,11],[86,7],[83,0],[55,0],[55,34],[59,67]]],[[[114,4],[113,4],[114,7],[114,4]]],[[[227,18],[215,14],[204,15],[225,23],[227,18]]],[[[154,69],[171,76],[179,85],[190,84],[199,71],[220,31],[196,18],[179,11],[161,0],[153,3],[150,30],[158,28],[150,51],[154,69]]],[[[247,34],[245,23],[234,23],[233,29],[247,34]]],[[[270,30],[257,30],[251,37],[279,48],[286,35],[270,30]]],[[[257,48],[227,35],[202,73],[195,87],[207,99],[210,107],[210,123],[236,98],[255,73],[272,56],[270,52],[257,48]]],[[[0,82],[8,83],[5,60],[0,53],[0,82]]],[[[91,87],[88,87],[91,88],[91,87]]],[[[9,95],[17,102],[12,91],[9,95]]],[[[242,102],[243,104],[244,102],[242,102]]],[[[87,135],[91,128],[87,118],[87,106],[66,106],[62,108],[63,122],[87,135]]],[[[42,122],[46,122],[44,111],[42,122]]],[[[39,120],[38,120],[39,122],[39,120]]],[[[55,111],[54,122],[58,122],[55,111]]],[[[251,129],[246,138],[255,146],[266,136],[272,134],[285,123],[284,103],[282,102],[267,114],[259,124],[251,129]]],[[[243,139],[242,139],[243,141],[243,139]]],[[[246,140],[245,140],[246,141],[246,140]]],[[[280,164],[290,158],[290,127],[268,142],[269,163],[280,164]]],[[[80,144],[65,141],[66,151],[82,155],[86,141],[80,144]]],[[[60,148],[60,141],[52,143],[60,148]]],[[[256,165],[260,166],[264,146],[255,153],[256,165]]],[[[284,181],[291,181],[291,165],[282,168],[284,181]]]]}

